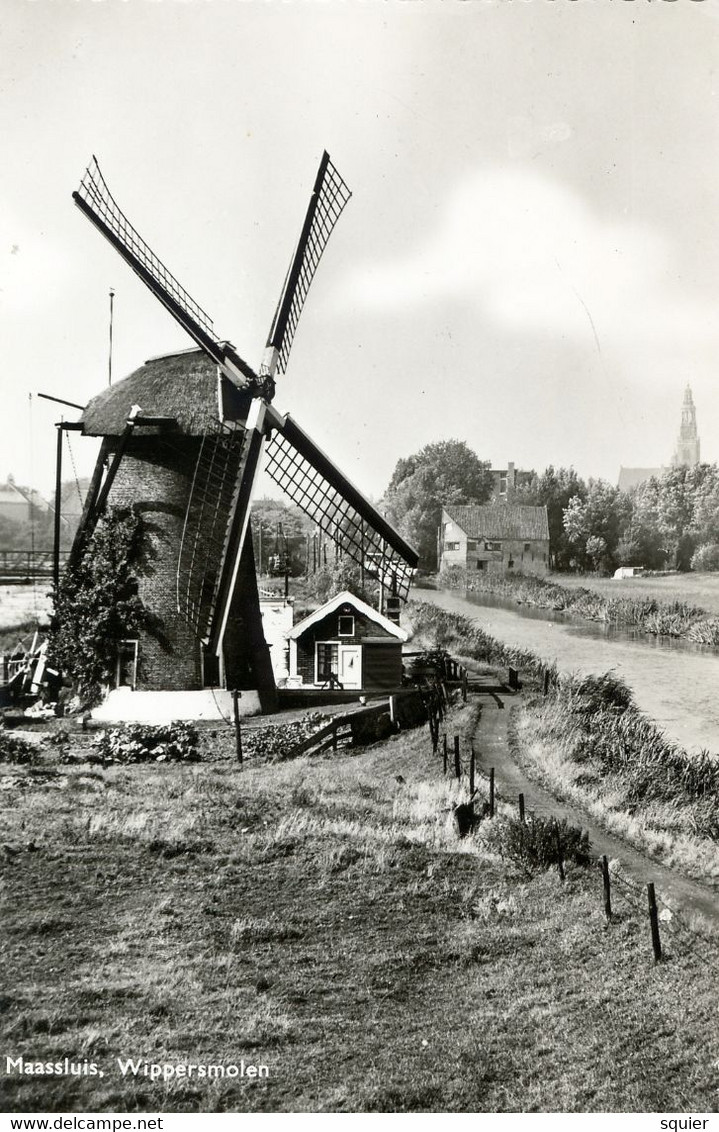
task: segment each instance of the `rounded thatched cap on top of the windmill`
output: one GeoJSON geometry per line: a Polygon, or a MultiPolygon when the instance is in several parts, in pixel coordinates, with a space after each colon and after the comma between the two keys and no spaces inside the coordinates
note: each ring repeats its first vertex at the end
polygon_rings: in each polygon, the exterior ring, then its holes
{"type": "MultiPolygon", "coordinates": [[[[217,366],[202,350],[151,358],[129,377],[88,401],[80,418],[83,432],[120,436],[132,408],[139,405],[143,417],[171,420],[176,434],[203,436],[221,412],[217,380],[217,366]]],[[[229,385],[226,380],[224,384],[229,385]]],[[[226,400],[231,391],[223,392],[226,400]]],[[[226,404],[222,414],[230,415],[226,404]]]]}

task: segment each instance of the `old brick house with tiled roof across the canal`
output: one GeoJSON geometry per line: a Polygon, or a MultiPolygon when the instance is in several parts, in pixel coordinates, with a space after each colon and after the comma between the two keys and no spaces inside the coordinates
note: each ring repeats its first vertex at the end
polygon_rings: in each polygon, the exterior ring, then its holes
{"type": "Polygon", "coordinates": [[[547,508],[512,503],[445,507],[438,541],[440,569],[460,566],[467,571],[546,574],[547,508]]]}

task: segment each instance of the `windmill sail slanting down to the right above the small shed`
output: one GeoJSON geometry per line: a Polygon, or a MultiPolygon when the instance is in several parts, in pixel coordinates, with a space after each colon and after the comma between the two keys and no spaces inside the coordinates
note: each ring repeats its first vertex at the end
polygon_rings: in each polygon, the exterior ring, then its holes
{"type": "Polygon", "coordinates": [[[265,447],[265,471],[342,554],[406,599],[417,551],[296,421],[274,410],[268,413],[273,432],[265,447]]]}

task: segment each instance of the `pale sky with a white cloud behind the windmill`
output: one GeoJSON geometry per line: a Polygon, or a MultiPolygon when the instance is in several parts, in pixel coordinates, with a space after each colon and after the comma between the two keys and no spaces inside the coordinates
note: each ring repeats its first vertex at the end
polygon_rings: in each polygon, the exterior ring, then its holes
{"type": "MultiPolygon", "coordinates": [[[[0,481],[191,342],[74,206],[92,156],[258,367],[323,149],[352,190],[275,404],[377,498],[402,456],[719,460],[714,0],[16,0],[0,23],[0,481]]],[[[65,472],[88,474],[71,436],[65,472]]]]}

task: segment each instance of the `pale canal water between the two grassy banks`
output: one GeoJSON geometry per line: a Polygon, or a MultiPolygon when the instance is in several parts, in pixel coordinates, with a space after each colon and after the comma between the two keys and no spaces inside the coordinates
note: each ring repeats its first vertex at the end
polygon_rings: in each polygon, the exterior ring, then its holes
{"type": "Polygon", "coordinates": [[[490,636],[555,661],[562,671],[587,675],[611,669],[669,738],[687,751],[707,748],[719,754],[719,653],[714,650],[485,594],[416,590],[413,597],[476,618],[490,636]]]}

